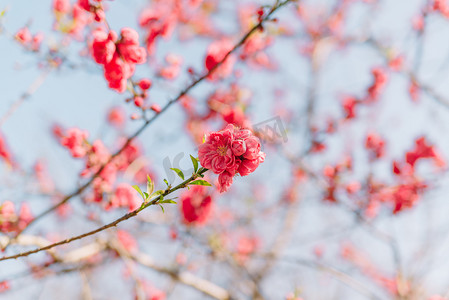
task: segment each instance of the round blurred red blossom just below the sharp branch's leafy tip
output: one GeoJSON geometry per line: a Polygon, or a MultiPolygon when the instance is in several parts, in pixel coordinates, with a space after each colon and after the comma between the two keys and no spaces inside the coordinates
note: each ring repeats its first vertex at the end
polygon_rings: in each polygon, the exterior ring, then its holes
{"type": "Polygon", "coordinates": [[[181,211],[186,224],[202,225],[212,211],[212,197],[204,186],[195,186],[181,196],[181,211]]]}

